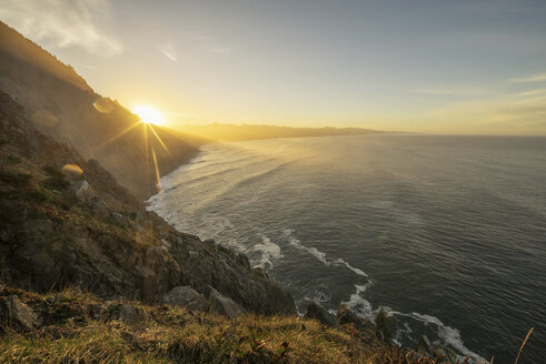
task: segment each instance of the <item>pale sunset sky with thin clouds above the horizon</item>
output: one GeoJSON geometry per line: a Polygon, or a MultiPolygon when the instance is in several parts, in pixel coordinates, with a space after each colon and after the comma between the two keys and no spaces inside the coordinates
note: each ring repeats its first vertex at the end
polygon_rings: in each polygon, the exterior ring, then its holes
{"type": "Polygon", "coordinates": [[[544,0],[2,0],[100,94],[170,124],[546,135],[544,0]]]}

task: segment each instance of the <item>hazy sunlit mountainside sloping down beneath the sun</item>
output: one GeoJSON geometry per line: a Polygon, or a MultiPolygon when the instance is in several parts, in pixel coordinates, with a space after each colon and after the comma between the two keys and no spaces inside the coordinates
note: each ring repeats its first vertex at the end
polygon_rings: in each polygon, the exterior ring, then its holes
{"type": "Polygon", "coordinates": [[[157,192],[156,164],[162,175],[198,152],[199,141],[146,127],[119,102],[96,93],[70,65],[2,22],[0,90],[23,105],[38,130],[97,159],[140,198],[157,192]]]}

